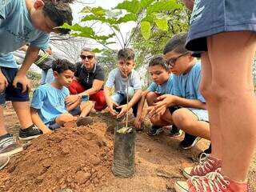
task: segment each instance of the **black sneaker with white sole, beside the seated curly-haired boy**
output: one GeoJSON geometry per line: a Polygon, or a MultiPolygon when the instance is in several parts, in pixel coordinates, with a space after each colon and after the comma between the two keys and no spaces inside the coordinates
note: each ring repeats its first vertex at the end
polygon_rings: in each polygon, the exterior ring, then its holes
{"type": "Polygon", "coordinates": [[[22,141],[28,141],[33,138],[38,138],[42,134],[42,130],[39,130],[37,126],[30,126],[24,130],[19,130],[18,138],[22,141]]]}

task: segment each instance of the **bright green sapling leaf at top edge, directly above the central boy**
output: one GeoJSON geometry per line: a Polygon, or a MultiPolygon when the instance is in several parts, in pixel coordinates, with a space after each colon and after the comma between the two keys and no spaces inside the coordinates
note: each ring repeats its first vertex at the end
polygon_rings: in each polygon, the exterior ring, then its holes
{"type": "Polygon", "coordinates": [[[142,6],[138,0],[124,1],[114,7],[118,10],[126,10],[128,13],[138,14],[142,10],[142,6]]]}

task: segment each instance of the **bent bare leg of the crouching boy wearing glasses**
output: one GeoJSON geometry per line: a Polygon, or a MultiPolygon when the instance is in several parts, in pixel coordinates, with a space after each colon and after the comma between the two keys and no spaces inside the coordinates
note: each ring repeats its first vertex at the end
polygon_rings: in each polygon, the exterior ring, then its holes
{"type": "Polygon", "coordinates": [[[175,110],[174,124],[187,134],[199,136],[210,140],[210,127],[208,122],[198,121],[198,117],[185,108],[175,110]]]}

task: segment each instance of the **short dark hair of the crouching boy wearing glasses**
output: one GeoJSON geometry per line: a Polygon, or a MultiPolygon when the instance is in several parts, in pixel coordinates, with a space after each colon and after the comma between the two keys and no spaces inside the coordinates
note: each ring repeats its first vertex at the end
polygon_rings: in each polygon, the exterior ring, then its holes
{"type": "Polygon", "coordinates": [[[186,37],[187,33],[175,34],[173,38],[166,43],[165,48],[162,50],[163,54],[167,54],[171,51],[175,51],[178,54],[185,54],[186,50],[186,37]]]}

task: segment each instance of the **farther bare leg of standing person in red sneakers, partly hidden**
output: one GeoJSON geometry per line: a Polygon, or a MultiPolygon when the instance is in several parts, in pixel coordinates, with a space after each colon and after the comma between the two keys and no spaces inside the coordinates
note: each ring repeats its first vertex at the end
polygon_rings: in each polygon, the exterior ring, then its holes
{"type": "Polygon", "coordinates": [[[206,106],[209,112],[209,122],[210,122],[210,141],[212,152],[211,156],[213,158],[222,158],[222,137],[219,137],[221,132],[220,125],[220,114],[218,101],[214,101],[211,98],[211,94],[215,91],[212,90],[212,66],[208,56],[208,52],[202,54],[202,82],[200,84],[200,90],[202,95],[206,98],[206,106]]]}

